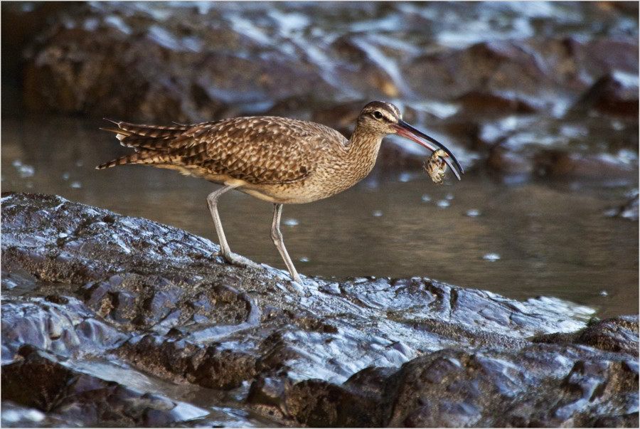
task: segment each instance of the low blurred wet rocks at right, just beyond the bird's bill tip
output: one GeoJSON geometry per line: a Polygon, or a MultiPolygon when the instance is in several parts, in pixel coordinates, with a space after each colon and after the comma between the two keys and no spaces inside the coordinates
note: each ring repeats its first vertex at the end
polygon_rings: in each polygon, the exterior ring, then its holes
{"type": "Polygon", "coordinates": [[[635,149],[630,147],[636,137],[629,130],[622,122],[604,119],[586,125],[575,115],[571,120],[544,122],[507,117],[484,122],[479,127],[477,147],[486,152],[484,165],[492,173],[523,179],[624,181],[632,186],[637,163],[635,149]],[[604,140],[613,147],[603,151],[599,143],[604,140]]]}

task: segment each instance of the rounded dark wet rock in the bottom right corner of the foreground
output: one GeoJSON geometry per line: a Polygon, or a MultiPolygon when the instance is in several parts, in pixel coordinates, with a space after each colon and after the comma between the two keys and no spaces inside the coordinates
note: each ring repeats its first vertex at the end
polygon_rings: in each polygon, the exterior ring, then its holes
{"type": "MultiPolygon", "coordinates": [[[[617,398],[602,392],[590,402],[581,401],[585,392],[568,393],[567,378],[575,374],[575,365],[582,368],[583,364],[567,364],[581,354],[581,349],[533,347],[518,357],[489,350],[474,354],[449,350],[415,359],[402,366],[390,381],[390,386],[398,386],[399,390],[390,396],[395,400],[388,403],[390,420],[385,424],[414,427],[562,425],[573,421],[592,424],[587,416],[603,402],[617,398]],[[535,364],[529,366],[527,361],[535,364]],[[522,371],[523,368],[528,370],[522,371]],[[543,390],[553,393],[545,398],[535,393],[543,390]]],[[[624,379],[627,381],[622,383],[628,384],[624,390],[628,388],[630,392],[637,383],[633,378],[629,380],[626,369],[612,361],[593,363],[589,368],[593,370],[585,371],[599,374],[602,386],[606,383],[619,386],[624,379]]],[[[633,412],[631,398],[622,402],[626,403],[626,411],[633,412]]]]}

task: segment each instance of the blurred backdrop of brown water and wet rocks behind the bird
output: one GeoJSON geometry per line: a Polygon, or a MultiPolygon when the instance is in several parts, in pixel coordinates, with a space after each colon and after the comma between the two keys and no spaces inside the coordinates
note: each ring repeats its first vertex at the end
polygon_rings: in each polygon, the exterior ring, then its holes
{"type": "MultiPolygon", "coordinates": [[[[388,137],[373,173],[286,206],[299,272],[425,276],[601,317],[638,311],[637,2],[2,2],[1,188],[58,194],[217,242],[215,185],[95,165],[127,153],[102,117],[279,115],[347,137],[370,100],[466,169],[388,137]]],[[[233,251],[283,268],[272,206],[226,194],[233,251]]]]}

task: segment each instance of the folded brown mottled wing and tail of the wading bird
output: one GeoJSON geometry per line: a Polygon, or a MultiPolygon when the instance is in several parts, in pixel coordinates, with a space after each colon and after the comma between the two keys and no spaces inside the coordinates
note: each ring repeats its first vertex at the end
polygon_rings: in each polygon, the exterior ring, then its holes
{"type": "MultiPolygon", "coordinates": [[[[320,152],[345,144],[335,129],[283,117],[237,117],[196,125],[155,127],[115,122],[120,143],[136,154],[117,164],[167,164],[196,176],[228,176],[252,184],[299,181],[313,174],[320,152]]],[[[112,165],[111,165],[112,164],[112,165]]]]}

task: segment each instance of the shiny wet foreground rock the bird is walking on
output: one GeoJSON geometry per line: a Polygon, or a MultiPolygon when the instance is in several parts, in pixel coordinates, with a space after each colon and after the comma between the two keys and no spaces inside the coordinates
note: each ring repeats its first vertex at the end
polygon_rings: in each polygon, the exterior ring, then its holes
{"type": "Polygon", "coordinates": [[[221,263],[185,231],[2,204],[2,425],[638,425],[638,317],[428,278],[221,263]]]}

